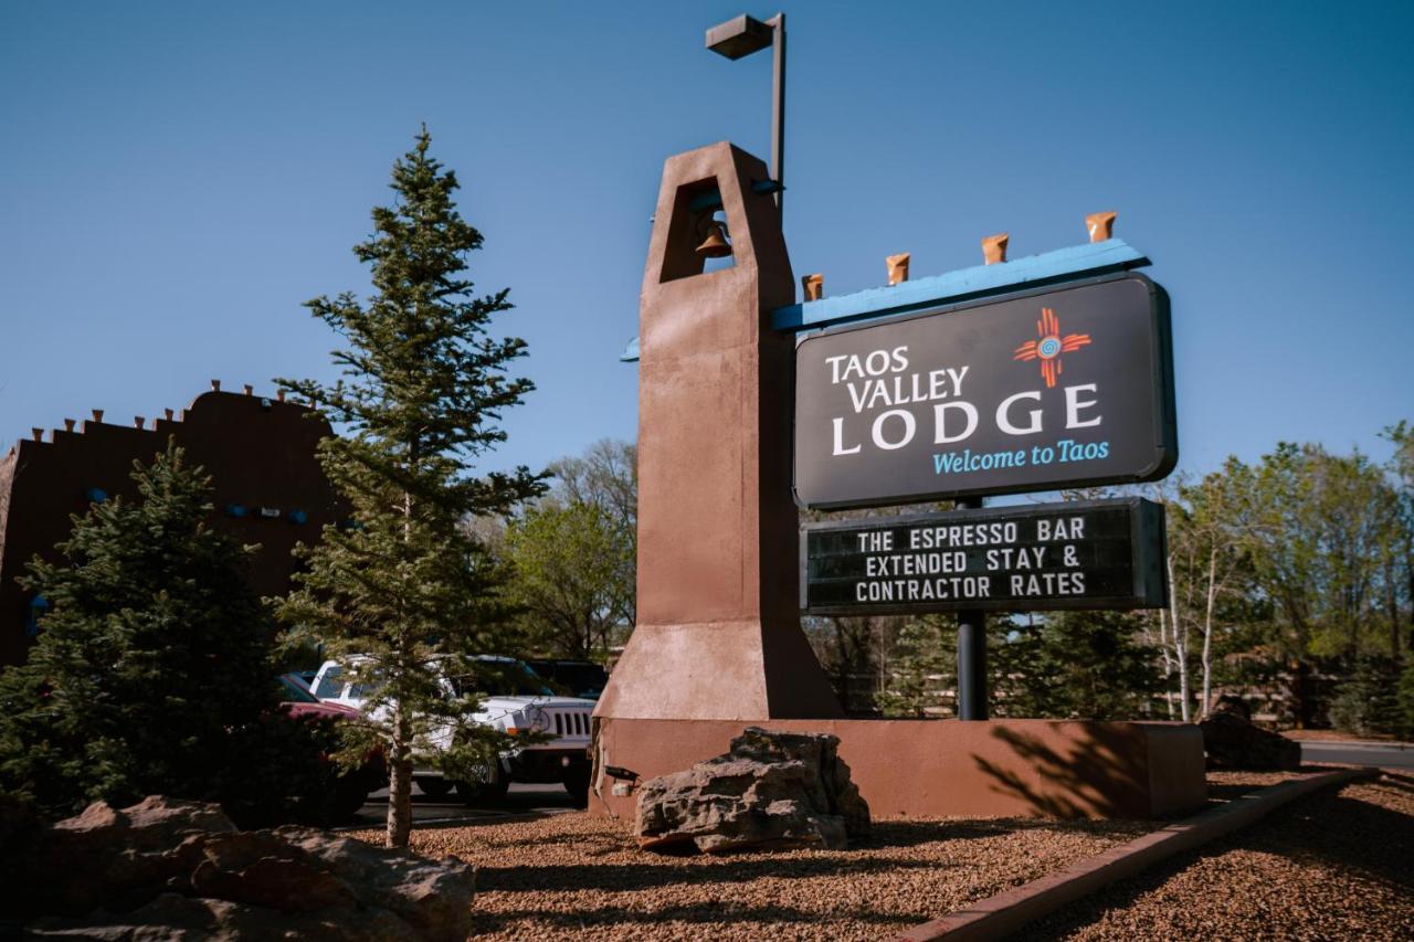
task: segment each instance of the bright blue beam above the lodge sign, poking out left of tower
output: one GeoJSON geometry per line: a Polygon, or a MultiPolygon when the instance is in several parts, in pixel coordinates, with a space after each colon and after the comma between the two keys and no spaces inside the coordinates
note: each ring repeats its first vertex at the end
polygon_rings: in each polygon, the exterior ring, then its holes
{"type": "MultiPolygon", "coordinates": [[[[1005,294],[1024,287],[1041,287],[1055,281],[1141,269],[1147,264],[1150,264],[1148,257],[1130,248],[1123,239],[1106,239],[1104,242],[1042,252],[1015,262],[959,269],[916,281],[904,281],[892,287],[868,289],[805,304],[788,304],[771,311],[771,327],[778,331],[820,330],[851,321],[908,314],[940,304],[970,301],[990,294],[1005,294]]],[[[635,337],[624,348],[619,359],[632,364],[638,361],[638,338],[635,337]]]]}

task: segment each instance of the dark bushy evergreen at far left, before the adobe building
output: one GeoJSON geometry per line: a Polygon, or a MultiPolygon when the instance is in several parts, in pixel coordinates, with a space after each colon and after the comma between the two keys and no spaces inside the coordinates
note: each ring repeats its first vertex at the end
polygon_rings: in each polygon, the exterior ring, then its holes
{"type": "Polygon", "coordinates": [[[95,504],[20,581],[48,614],[0,676],[0,785],[64,816],[148,793],[218,799],[230,734],[274,709],[250,547],[214,530],[209,478],[168,444],[139,498],[95,504]]]}

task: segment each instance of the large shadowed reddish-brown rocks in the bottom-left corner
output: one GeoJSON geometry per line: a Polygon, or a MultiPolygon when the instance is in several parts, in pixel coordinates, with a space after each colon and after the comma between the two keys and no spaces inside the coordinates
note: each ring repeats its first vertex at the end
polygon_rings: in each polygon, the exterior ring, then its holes
{"type": "Polygon", "coordinates": [[[240,832],[215,805],[160,796],[99,802],[52,827],[0,823],[23,836],[0,847],[0,878],[35,938],[461,942],[471,931],[475,870],[455,857],[308,827],[240,832]]]}

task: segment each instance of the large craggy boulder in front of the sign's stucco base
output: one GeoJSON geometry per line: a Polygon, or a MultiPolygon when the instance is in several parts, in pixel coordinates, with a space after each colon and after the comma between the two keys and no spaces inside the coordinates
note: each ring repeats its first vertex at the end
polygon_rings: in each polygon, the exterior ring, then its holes
{"type": "Polygon", "coordinates": [[[638,843],[704,853],[843,849],[870,829],[870,806],[827,733],[748,727],[731,750],[643,782],[638,843]]]}

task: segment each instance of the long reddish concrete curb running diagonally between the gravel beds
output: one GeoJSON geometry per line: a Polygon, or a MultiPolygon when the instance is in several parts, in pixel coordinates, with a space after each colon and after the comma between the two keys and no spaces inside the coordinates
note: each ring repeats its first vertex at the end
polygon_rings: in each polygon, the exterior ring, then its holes
{"type": "Polygon", "coordinates": [[[1007,890],[986,900],[978,900],[966,909],[956,909],[940,919],[913,926],[896,936],[898,942],[923,942],[925,939],[947,939],[949,942],[954,942],[1004,938],[1025,924],[1053,912],[1068,902],[1086,897],[1107,884],[1133,877],[1145,867],[1167,857],[1205,844],[1239,827],[1246,827],[1302,795],[1333,785],[1379,778],[1379,775],[1380,771],[1374,768],[1355,768],[1339,772],[1322,772],[1271,785],[1270,788],[1233,799],[1220,808],[1202,812],[1154,833],[1144,835],[1127,844],[1111,847],[1059,873],[1032,880],[1015,890],[1007,890]]]}

